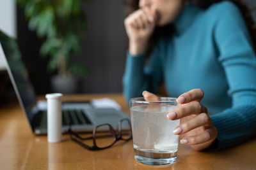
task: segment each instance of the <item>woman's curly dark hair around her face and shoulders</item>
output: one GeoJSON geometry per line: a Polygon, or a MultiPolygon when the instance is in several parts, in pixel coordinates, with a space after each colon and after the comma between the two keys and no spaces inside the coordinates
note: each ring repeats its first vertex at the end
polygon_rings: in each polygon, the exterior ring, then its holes
{"type": "MultiPolygon", "coordinates": [[[[140,0],[123,0],[123,1],[127,5],[127,15],[139,9],[140,0]]],[[[253,41],[253,49],[255,51],[256,31],[253,30],[253,27],[252,27],[254,22],[253,22],[250,10],[247,8],[246,4],[243,3],[243,1],[241,0],[184,0],[184,1],[187,1],[188,3],[193,4],[194,6],[198,6],[199,8],[202,8],[202,9],[207,9],[212,4],[219,3],[221,1],[231,1],[232,3],[236,4],[236,6],[241,11],[241,14],[243,15],[243,18],[246,22],[246,26],[248,28],[248,31],[250,32],[250,36],[253,41]]],[[[164,25],[162,27],[156,27],[156,29],[154,30],[148,42],[147,57],[152,52],[152,49],[154,45],[156,45],[157,40],[159,38],[163,38],[163,37],[168,38],[172,36],[174,31],[175,29],[173,27],[173,24],[164,25]]]]}

